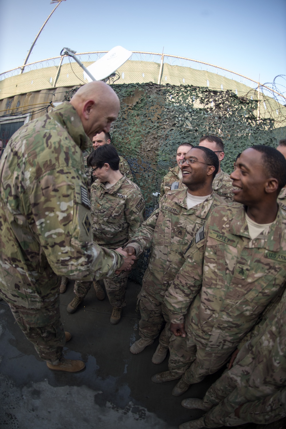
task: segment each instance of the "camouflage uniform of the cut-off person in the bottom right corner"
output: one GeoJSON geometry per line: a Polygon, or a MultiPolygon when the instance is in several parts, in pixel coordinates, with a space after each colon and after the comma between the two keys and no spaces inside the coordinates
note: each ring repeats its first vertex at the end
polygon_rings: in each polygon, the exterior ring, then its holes
{"type": "Polygon", "coordinates": [[[286,416],[286,292],[275,314],[243,346],[234,366],[210,388],[213,394],[226,386],[234,390],[228,403],[240,409],[240,418],[267,424],[286,416]]]}

